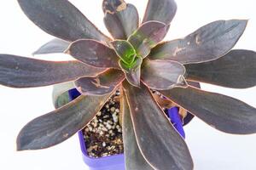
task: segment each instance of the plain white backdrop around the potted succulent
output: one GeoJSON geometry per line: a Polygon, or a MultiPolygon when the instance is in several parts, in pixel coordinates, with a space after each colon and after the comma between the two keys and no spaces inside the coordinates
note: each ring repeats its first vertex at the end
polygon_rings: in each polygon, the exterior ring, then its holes
{"type": "MultiPolygon", "coordinates": [[[[102,31],[102,0],[73,0],[79,9],[102,31]]],[[[137,6],[140,17],[146,0],[126,1],[137,6]]],[[[177,0],[177,14],[166,39],[184,37],[213,20],[249,19],[247,30],[235,48],[256,51],[256,10],[253,0],[177,0]]],[[[34,26],[15,0],[0,1],[0,53],[32,57],[32,52],[52,37],[34,26]]],[[[37,56],[41,59],[68,59],[64,55],[37,56]]],[[[202,86],[227,94],[256,107],[256,88],[244,90],[202,86]]],[[[47,150],[15,151],[21,127],[33,118],[53,111],[51,87],[13,89],[0,86],[0,169],[86,169],[79,150],[78,135],[47,150]]],[[[242,113],[241,113],[242,114],[242,113]]],[[[255,113],[256,114],[256,113],[255,113]]],[[[187,144],[195,170],[256,169],[256,135],[220,133],[194,119],[185,127],[187,144]]]]}

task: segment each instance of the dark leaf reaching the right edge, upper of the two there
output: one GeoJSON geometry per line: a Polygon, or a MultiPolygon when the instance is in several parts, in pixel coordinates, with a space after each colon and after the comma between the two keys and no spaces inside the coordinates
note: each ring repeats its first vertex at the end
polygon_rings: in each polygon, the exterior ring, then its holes
{"type": "Polygon", "coordinates": [[[185,67],[189,80],[227,88],[251,88],[256,85],[256,53],[253,51],[231,50],[219,59],[185,67]]]}

